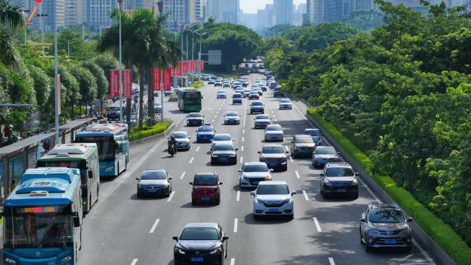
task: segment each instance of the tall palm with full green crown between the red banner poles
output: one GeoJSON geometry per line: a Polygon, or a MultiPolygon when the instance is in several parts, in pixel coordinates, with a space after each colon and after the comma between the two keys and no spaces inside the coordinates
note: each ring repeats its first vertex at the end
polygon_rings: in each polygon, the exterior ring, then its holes
{"type": "MultiPolygon", "coordinates": [[[[118,13],[112,13],[112,18],[116,19],[118,13]]],[[[151,10],[135,10],[131,16],[121,14],[121,38],[123,61],[127,67],[135,65],[139,72],[139,129],[143,128],[143,96],[144,96],[144,76],[150,73],[151,67],[155,65],[168,65],[176,61],[175,52],[172,49],[176,47],[174,43],[167,40],[163,36],[163,25],[166,17],[154,17],[151,10]],[[169,53],[170,52],[170,53],[169,53]]],[[[111,50],[114,54],[118,54],[118,25],[103,34],[103,38],[98,44],[98,51],[111,50]]],[[[149,84],[148,96],[151,98],[152,111],[148,114],[154,117],[154,97],[149,84]]],[[[129,109],[128,104],[128,109],[129,109]]],[[[129,112],[128,112],[129,115],[129,112]]],[[[128,116],[129,120],[129,116],[128,116]]]]}

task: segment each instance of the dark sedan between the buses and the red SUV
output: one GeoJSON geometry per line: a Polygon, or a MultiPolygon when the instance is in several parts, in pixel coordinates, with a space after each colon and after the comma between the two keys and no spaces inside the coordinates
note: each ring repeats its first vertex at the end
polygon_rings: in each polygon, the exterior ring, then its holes
{"type": "Polygon", "coordinates": [[[165,169],[145,170],[136,180],[138,181],[138,198],[143,195],[165,195],[165,197],[169,197],[171,193],[171,177],[165,169]]]}

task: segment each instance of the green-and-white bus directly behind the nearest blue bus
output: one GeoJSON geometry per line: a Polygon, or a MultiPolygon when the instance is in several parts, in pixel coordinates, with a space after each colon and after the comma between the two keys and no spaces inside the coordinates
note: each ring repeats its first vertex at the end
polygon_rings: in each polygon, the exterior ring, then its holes
{"type": "Polygon", "coordinates": [[[79,169],[82,182],[83,213],[98,201],[100,165],[96,143],[56,145],[37,161],[38,167],[79,169]]]}

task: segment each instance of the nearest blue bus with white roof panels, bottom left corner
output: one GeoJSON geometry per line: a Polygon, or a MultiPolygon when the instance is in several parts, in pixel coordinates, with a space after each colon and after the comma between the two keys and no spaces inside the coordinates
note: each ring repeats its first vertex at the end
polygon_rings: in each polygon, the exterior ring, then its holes
{"type": "Polygon", "coordinates": [[[76,264],[82,238],[79,169],[28,169],[3,202],[3,264],[76,264]]]}

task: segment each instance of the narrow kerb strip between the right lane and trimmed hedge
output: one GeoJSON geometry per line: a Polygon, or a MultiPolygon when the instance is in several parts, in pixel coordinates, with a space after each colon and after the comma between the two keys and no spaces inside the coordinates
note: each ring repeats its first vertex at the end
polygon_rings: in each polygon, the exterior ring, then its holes
{"type": "MultiPolygon", "coordinates": [[[[306,105],[309,106],[309,104],[306,105]]],[[[331,143],[331,145],[333,145],[337,151],[340,151],[346,162],[352,165],[353,168],[360,173],[360,179],[364,182],[366,187],[368,187],[371,191],[373,191],[373,193],[375,193],[375,195],[377,195],[379,200],[382,200],[386,203],[394,202],[388,193],[386,193],[386,191],[384,191],[384,189],[382,189],[379,184],[377,184],[377,182],[375,182],[375,180],[373,180],[373,178],[371,178],[368,173],[366,173],[366,171],[352,157],[350,157],[350,155],[348,155],[348,153],[346,153],[346,151],[344,151],[344,149],[342,149],[342,147],[340,147],[337,142],[335,142],[335,139],[331,137],[331,135],[328,134],[328,132],[324,130],[324,128],[319,123],[317,123],[314,118],[308,114],[304,114],[304,116],[313,125],[319,128],[320,131],[322,131],[324,137],[327,138],[328,142],[331,143]]],[[[451,259],[450,256],[448,256],[448,254],[445,253],[445,251],[443,251],[440,246],[434,240],[432,240],[432,238],[429,237],[428,234],[425,233],[417,223],[412,222],[410,226],[412,226],[412,237],[419,243],[420,246],[428,247],[428,251],[426,253],[428,255],[432,255],[432,259],[437,260],[439,264],[456,265],[456,262],[454,262],[454,260],[451,259]]]]}

